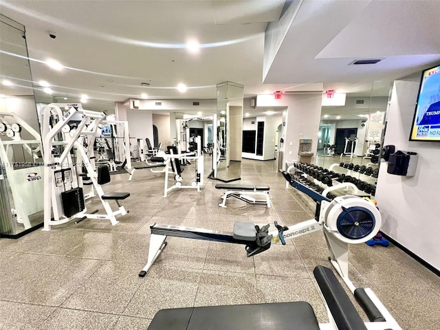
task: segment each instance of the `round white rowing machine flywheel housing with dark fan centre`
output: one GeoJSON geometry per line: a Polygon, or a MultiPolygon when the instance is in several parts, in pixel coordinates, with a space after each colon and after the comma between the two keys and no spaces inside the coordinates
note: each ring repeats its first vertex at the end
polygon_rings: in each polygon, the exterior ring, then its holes
{"type": "Polygon", "coordinates": [[[337,197],[325,209],[325,228],[346,243],[369,241],[381,225],[376,206],[358,196],[337,197]]]}

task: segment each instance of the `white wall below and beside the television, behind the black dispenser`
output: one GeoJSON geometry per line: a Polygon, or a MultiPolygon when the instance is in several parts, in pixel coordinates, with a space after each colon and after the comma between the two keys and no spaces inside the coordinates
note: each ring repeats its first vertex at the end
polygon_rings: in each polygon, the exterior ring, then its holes
{"type": "Polygon", "coordinates": [[[380,166],[375,198],[383,218],[382,230],[405,248],[440,270],[440,144],[410,142],[421,74],[395,81],[384,145],[419,155],[414,177],[400,177],[380,166]]]}

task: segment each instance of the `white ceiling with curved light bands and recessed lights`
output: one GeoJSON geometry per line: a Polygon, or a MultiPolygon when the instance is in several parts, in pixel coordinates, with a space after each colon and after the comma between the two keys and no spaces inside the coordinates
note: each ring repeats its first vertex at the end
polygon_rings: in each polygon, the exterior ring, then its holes
{"type": "Polygon", "coordinates": [[[47,80],[58,98],[87,94],[102,107],[142,93],[216,98],[226,80],[244,85],[245,97],[322,88],[370,96],[373,82],[375,96],[388,96],[394,79],[440,63],[440,1],[291,2],[298,12],[266,74],[265,29],[285,12],[284,0],[2,0],[0,10],[25,25],[34,81],[47,80]],[[186,49],[190,40],[203,45],[197,54],[186,49]],[[39,62],[48,58],[65,69],[39,62]],[[384,60],[349,65],[359,58],[384,60]]]}

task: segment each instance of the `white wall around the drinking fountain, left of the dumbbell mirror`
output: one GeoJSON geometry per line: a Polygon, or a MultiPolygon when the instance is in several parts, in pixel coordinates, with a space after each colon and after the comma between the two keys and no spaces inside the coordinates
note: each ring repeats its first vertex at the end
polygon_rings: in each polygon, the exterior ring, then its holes
{"type": "MultiPolygon", "coordinates": [[[[283,127],[284,152],[283,166],[286,159],[298,159],[300,139],[311,139],[311,150],[316,153],[318,147],[318,131],[321,116],[321,94],[289,94],[276,100],[273,95],[259,95],[256,98],[257,107],[287,107],[283,113],[286,126],[283,127]]],[[[315,157],[311,162],[314,164],[315,157]]]]}

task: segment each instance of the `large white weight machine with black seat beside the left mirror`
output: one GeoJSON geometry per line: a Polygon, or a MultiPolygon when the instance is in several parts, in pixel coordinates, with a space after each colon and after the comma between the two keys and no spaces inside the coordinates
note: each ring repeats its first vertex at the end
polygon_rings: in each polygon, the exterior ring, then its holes
{"type": "Polygon", "coordinates": [[[50,230],[52,225],[67,223],[75,218],[79,218],[79,221],[87,218],[108,219],[112,225],[118,223],[115,217],[128,212],[120,200],[130,194],[112,192],[105,195],[101,184],[110,181],[108,167],[98,167],[96,171],[94,166],[94,141],[104,113],[84,110],[79,103],[61,103],[43,107],[41,114],[45,150],[43,230],[50,230]],[[63,113],[61,109],[67,111],[63,113]],[[71,124],[75,124],[76,129],[71,129],[71,124]],[[79,173],[78,168],[85,170],[85,173],[79,173]],[[87,213],[82,175],[91,180],[105,214],[98,214],[98,210],[87,213]],[[70,189],[66,190],[66,186],[70,189]],[[118,210],[113,211],[108,200],[115,200],[118,210]]]}

